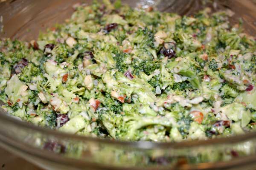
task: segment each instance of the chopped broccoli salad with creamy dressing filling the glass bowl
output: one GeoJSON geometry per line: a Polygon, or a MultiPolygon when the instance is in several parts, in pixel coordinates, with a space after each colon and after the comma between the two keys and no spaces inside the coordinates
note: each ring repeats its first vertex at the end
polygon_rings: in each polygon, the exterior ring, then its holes
{"type": "Polygon", "coordinates": [[[0,100],[62,132],[180,142],[256,128],[256,40],[233,12],[76,5],[38,40],[0,41],[0,100]]]}

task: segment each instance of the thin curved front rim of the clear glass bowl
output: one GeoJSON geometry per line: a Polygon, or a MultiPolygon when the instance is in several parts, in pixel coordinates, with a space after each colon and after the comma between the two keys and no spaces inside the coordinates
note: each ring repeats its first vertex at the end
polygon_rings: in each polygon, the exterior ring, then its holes
{"type": "Polygon", "coordinates": [[[256,137],[256,132],[244,133],[241,135],[230,136],[230,137],[221,137],[207,140],[191,140],[191,141],[182,141],[182,142],[150,142],[150,141],[121,141],[121,140],[111,140],[111,139],[102,139],[92,136],[79,136],[70,133],[60,132],[58,130],[52,130],[45,127],[40,127],[33,125],[28,122],[23,122],[18,119],[14,119],[9,116],[4,111],[0,111],[0,120],[8,122],[9,125],[20,127],[21,129],[32,129],[39,133],[43,133],[46,135],[56,136],[65,139],[75,139],[79,141],[85,142],[98,142],[102,144],[113,144],[113,145],[121,145],[127,147],[137,147],[141,149],[182,149],[188,147],[201,147],[201,146],[209,146],[215,144],[234,144],[239,142],[248,141],[256,137]]]}

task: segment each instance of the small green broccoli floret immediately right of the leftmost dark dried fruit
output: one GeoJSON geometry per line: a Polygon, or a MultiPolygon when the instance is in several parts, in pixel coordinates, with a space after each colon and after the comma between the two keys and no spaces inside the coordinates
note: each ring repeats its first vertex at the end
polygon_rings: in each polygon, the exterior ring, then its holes
{"type": "Polygon", "coordinates": [[[41,69],[31,62],[23,68],[19,78],[23,82],[30,82],[32,77],[38,76],[40,73],[41,69]]]}

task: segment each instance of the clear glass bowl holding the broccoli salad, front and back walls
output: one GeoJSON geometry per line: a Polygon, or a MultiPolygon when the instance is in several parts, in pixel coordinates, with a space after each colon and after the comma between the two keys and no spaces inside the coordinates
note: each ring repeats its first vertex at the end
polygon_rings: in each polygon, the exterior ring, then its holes
{"type": "MultiPolygon", "coordinates": [[[[0,37],[33,40],[39,31],[62,23],[79,0],[1,0],[0,37]],[[3,1],[3,2],[2,2],[3,1]],[[1,19],[2,18],[2,19],[1,19]]],[[[90,3],[90,1],[86,1],[90,3]]],[[[244,20],[256,32],[253,0],[126,0],[132,7],[193,14],[206,6],[235,12],[231,24],[244,20]]],[[[0,146],[44,169],[241,169],[256,167],[256,133],[179,143],[122,142],[61,133],[21,122],[0,111],[0,146]]]]}

